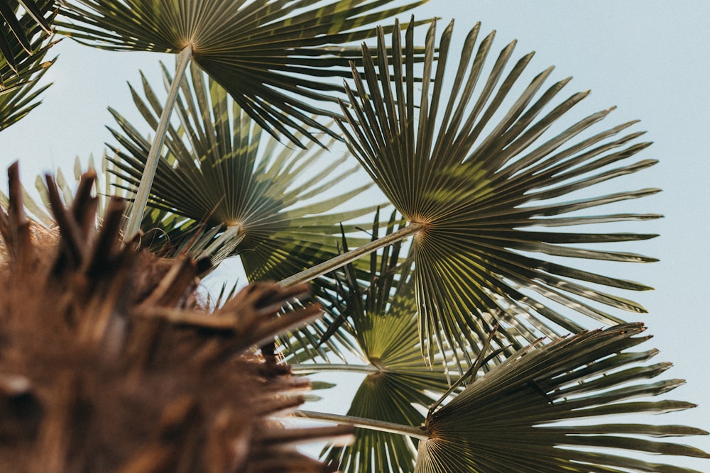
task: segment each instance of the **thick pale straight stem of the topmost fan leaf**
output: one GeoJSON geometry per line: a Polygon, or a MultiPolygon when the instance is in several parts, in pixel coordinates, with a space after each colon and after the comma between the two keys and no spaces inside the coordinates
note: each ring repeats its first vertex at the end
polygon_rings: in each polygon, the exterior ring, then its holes
{"type": "Polygon", "coordinates": [[[148,195],[151,193],[151,187],[153,187],[155,171],[158,169],[160,149],[163,148],[163,143],[165,143],[165,135],[167,135],[168,126],[170,125],[170,116],[173,114],[175,101],[178,99],[178,91],[180,91],[180,82],[182,82],[182,77],[185,75],[187,65],[190,64],[190,59],[192,59],[192,45],[188,44],[175,59],[175,77],[173,77],[173,84],[170,86],[163,113],[160,113],[160,123],[158,123],[158,128],[155,129],[155,138],[153,138],[151,151],[148,153],[146,167],[143,171],[143,176],[141,176],[141,184],[138,185],[136,199],[131,207],[131,215],[124,233],[125,241],[130,241],[141,229],[143,212],[148,204],[148,195]]]}

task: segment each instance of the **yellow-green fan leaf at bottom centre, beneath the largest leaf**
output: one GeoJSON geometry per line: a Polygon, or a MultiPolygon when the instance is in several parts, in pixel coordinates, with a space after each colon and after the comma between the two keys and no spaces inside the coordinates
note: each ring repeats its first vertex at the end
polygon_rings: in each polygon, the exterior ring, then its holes
{"type": "MultiPolygon", "coordinates": [[[[386,233],[392,233],[396,223],[393,214],[386,233]]],[[[373,239],[378,237],[378,230],[376,218],[373,239]]],[[[371,254],[366,286],[352,265],[344,268],[344,282],[338,295],[344,303],[339,316],[346,320],[342,320],[340,331],[345,328],[357,341],[356,355],[366,365],[319,363],[292,365],[292,369],[366,372],[347,415],[415,427],[425,420],[422,412],[436,400],[435,393],[441,395],[449,384],[442,362],[431,369],[422,360],[411,262],[400,262],[400,244],[386,247],[381,255],[371,254]]],[[[354,443],[328,447],[323,456],[340,464],[343,472],[413,472],[416,445],[397,433],[359,428],[354,443]]]]}

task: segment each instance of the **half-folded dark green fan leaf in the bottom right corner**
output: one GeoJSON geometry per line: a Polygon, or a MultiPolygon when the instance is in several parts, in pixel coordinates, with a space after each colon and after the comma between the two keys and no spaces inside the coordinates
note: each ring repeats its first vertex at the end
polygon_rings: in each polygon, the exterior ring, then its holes
{"type": "MultiPolygon", "coordinates": [[[[427,418],[417,472],[667,472],[690,469],[608,453],[613,448],[710,458],[706,452],[648,437],[707,435],[680,425],[591,424],[601,416],[692,408],[681,401],[629,401],[683,384],[652,379],[670,363],[642,365],[657,350],[628,352],[648,337],[640,323],[616,325],[530,345],[466,386],[427,418]],[[581,421],[572,425],[572,421],[581,421]],[[603,451],[589,449],[603,448],[603,451]]],[[[695,472],[698,473],[698,472],[695,472]]]]}

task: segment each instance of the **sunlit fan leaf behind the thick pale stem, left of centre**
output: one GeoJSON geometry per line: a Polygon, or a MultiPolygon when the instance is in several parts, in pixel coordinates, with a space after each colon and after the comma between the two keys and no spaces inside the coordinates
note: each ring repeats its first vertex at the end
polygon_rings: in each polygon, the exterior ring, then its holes
{"type": "MultiPolygon", "coordinates": [[[[151,206],[204,223],[207,230],[224,229],[214,248],[227,245],[223,257],[239,253],[251,281],[281,279],[337,255],[339,223],[375,208],[332,210],[369,184],[332,194],[355,170],[339,170],[345,157],[323,165],[321,148],[296,152],[271,137],[261,142],[261,127],[217,82],[197,67],[192,67],[191,77],[182,82],[177,105],[180,127],[168,129],[168,151],[158,165],[151,206]],[[317,165],[322,167],[309,176],[317,165]],[[323,200],[315,201],[319,197],[323,200]]],[[[145,80],[145,98],[131,91],[139,111],[155,128],[163,110],[155,92],[145,80]]],[[[136,185],[150,141],[119,113],[111,113],[121,128],[112,133],[125,151],[118,150],[109,160],[116,175],[136,185]]],[[[352,230],[354,226],[346,227],[352,230]]]]}

